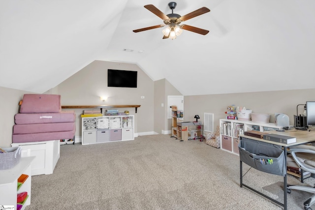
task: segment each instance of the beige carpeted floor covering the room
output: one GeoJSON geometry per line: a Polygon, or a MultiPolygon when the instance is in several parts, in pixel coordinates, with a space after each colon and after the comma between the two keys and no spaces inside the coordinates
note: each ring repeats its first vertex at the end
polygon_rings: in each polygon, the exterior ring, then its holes
{"type": "MultiPolygon", "coordinates": [[[[243,164],[244,183],[259,191],[280,176],[243,164]]],[[[240,187],[239,156],[169,135],[134,141],[62,145],[51,175],[32,176],[26,210],[281,210],[240,187]]],[[[311,178],[304,184],[312,184],[311,178]]],[[[299,184],[293,176],[288,183],[299,184]]],[[[270,191],[269,193],[272,193],[270,191]]],[[[292,194],[293,195],[293,194],[292,194]]],[[[290,200],[289,210],[303,210],[290,200]]]]}

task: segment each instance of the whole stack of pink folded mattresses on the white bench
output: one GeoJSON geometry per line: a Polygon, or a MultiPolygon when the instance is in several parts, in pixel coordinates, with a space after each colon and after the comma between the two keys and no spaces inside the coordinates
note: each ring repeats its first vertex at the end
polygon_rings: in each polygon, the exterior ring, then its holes
{"type": "Polygon", "coordinates": [[[12,142],[73,139],[74,111],[61,111],[61,96],[24,94],[20,113],[14,116],[12,142]]]}

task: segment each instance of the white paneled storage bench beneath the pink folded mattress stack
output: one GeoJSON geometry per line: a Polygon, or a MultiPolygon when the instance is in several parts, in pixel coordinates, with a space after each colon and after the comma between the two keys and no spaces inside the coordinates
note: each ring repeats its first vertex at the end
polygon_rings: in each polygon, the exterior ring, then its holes
{"type": "Polygon", "coordinates": [[[35,156],[32,161],[32,176],[52,174],[60,157],[60,140],[13,143],[21,147],[21,157],[35,156]]]}

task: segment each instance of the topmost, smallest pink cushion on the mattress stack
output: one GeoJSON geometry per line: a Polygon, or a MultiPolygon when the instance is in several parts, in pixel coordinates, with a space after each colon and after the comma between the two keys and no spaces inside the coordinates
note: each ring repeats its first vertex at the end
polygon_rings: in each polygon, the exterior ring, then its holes
{"type": "Polygon", "coordinates": [[[24,94],[20,113],[61,112],[61,96],[55,94],[24,94]]]}

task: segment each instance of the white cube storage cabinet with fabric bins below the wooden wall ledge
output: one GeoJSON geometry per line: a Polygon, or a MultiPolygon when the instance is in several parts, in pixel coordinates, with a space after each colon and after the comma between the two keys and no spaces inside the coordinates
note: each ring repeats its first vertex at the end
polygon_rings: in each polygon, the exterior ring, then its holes
{"type": "Polygon", "coordinates": [[[82,145],[134,140],[134,116],[82,118],[82,145]]]}

